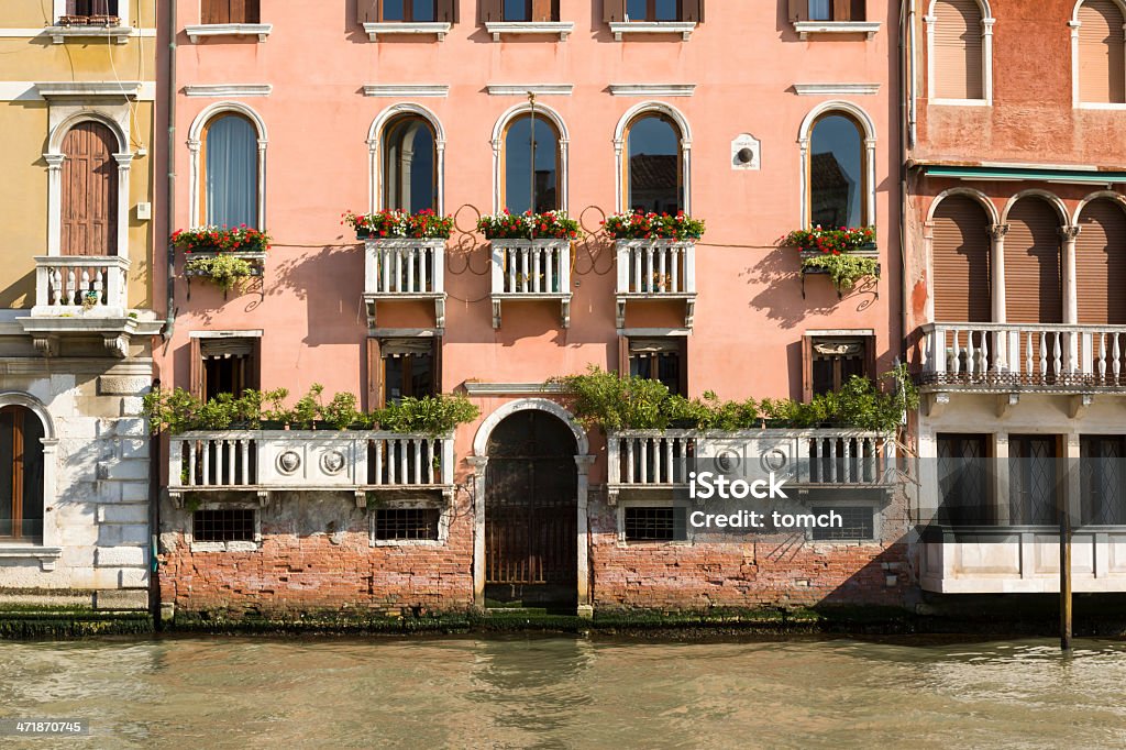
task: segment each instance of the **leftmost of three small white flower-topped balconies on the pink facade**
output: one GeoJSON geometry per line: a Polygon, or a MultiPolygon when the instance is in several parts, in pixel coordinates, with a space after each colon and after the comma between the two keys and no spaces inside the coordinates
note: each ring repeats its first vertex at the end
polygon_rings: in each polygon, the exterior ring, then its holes
{"type": "Polygon", "coordinates": [[[379,302],[432,300],[435,327],[446,327],[446,241],[367,240],[364,243],[364,304],[376,325],[379,302]]]}

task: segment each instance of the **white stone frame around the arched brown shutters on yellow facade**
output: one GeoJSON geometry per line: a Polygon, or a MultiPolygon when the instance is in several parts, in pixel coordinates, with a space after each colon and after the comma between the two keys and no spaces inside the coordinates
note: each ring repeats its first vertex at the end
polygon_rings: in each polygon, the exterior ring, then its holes
{"type": "Polygon", "coordinates": [[[63,141],[72,127],[93,122],[105,125],[117,139],[117,257],[129,257],[129,146],[131,99],[136,99],[140,83],[36,83],[47,101],[47,255],[62,255],[63,141]]]}

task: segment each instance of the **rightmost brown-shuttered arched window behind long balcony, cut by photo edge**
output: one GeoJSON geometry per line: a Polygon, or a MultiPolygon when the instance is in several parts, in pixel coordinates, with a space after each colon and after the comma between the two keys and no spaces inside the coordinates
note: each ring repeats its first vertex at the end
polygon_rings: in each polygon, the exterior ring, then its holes
{"type": "Polygon", "coordinates": [[[1126,212],[1115,200],[1083,206],[1075,239],[1079,322],[1126,325],[1126,212]]]}

